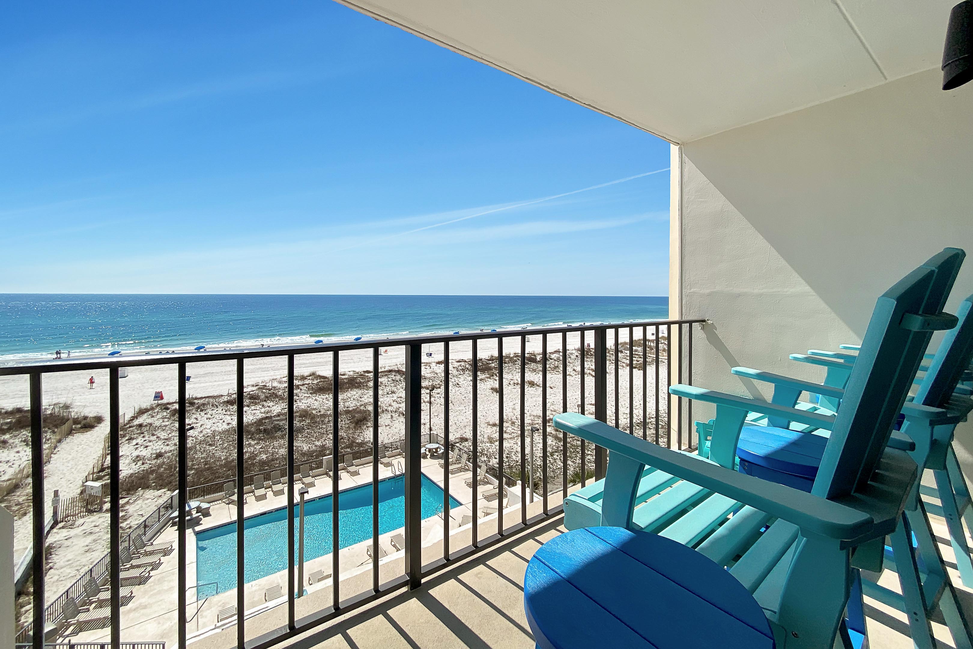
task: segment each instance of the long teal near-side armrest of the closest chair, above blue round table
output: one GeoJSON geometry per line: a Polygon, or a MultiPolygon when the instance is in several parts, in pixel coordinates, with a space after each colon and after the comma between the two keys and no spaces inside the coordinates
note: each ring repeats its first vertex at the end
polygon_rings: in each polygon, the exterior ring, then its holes
{"type": "Polygon", "coordinates": [[[875,523],[871,516],[847,505],[754,478],[687,453],[658,447],[589,416],[556,415],[554,425],[608,451],[794,523],[805,533],[849,541],[867,533],[875,523]]]}

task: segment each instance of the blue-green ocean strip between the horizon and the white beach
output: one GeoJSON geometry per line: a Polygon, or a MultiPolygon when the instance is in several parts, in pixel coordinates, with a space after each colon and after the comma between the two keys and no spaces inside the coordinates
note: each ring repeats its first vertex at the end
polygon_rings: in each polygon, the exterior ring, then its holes
{"type": "Polygon", "coordinates": [[[0,361],[667,315],[665,297],[0,294],[0,361]]]}

